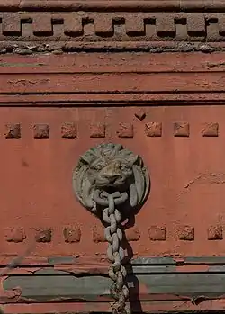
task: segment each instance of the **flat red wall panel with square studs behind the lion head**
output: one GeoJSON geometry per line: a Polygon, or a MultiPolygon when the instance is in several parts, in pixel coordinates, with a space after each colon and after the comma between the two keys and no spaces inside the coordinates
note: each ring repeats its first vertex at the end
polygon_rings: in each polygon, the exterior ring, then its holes
{"type": "Polygon", "coordinates": [[[143,157],[152,182],[137,229],[127,230],[134,253],[223,255],[223,106],[141,108],[142,121],[135,107],[0,110],[2,253],[23,251],[36,229],[51,229],[49,242],[37,242],[35,254],[104,254],[101,223],[76,202],[71,176],[86,149],[116,142],[143,157]],[[65,122],[76,124],[76,138],[62,138],[65,122]],[[37,131],[40,138],[34,138],[37,131]],[[21,227],[26,238],[9,240],[8,228],[21,227]],[[65,243],[68,227],[76,229],[75,242],[65,243]]]}

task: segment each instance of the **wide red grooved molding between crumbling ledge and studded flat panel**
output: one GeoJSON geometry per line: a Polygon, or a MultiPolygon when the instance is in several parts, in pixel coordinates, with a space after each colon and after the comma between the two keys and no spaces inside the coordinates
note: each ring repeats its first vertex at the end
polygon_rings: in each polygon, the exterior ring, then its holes
{"type": "Polygon", "coordinates": [[[224,52],[6,55],[0,58],[0,103],[222,104],[224,57],[224,52]]]}

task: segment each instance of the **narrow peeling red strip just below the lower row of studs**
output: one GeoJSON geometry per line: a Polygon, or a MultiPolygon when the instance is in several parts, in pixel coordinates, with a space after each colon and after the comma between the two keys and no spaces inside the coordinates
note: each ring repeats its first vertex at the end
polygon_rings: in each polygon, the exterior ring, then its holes
{"type": "MultiPolygon", "coordinates": [[[[12,260],[17,257],[16,255],[0,255],[0,268],[5,267],[9,263],[12,262],[12,260]]],[[[196,266],[194,270],[197,272],[205,272],[209,268],[201,268],[202,265],[208,265],[211,266],[211,270],[214,269],[214,271],[217,272],[225,272],[225,256],[134,256],[131,258],[131,261],[129,263],[133,267],[146,267],[149,266],[149,269],[153,269],[151,267],[158,267],[161,266],[175,266],[175,267],[183,267],[184,270],[186,266],[196,266]],[[199,266],[199,268],[197,268],[199,266]],[[215,268],[217,267],[218,268],[215,268]],[[213,268],[214,267],[214,268],[213,268]]],[[[69,265],[74,265],[74,267],[77,266],[77,269],[81,269],[84,267],[84,269],[88,266],[90,269],[94,269],[96,265],[98,267],[102,267],[102,269],[105,269],[108,267],[109,262],[107,260],[107,257],[105,255],[99,255],[99,256],[24,256],[22,261],[20,262],[20,265],[18,269],[23,269],[23,267],[29,268],[29,267],[52,267],[57,265],[66,265],[65,267],[69,267],[69,265]]],[[[176,268],[181,270],[182,268],[176,268]]],[[[139,270],[141,270],[139,268],[139,270]]],[[[162,270],[162,269],[161,269],[162,270]]],[[[194,271],[193,270],[193,271],[194,271]]],[[[21,272],[21,271],[20,271],[21,272]]],[[[142,270],[141,270],[142,272],[142,270]]],[[[7,274],[16,274],[17,270],[14,269],[13,271],[9,271],[7,274]]],[[[171,272],[173,273],[173,272],[171,272]]]]}

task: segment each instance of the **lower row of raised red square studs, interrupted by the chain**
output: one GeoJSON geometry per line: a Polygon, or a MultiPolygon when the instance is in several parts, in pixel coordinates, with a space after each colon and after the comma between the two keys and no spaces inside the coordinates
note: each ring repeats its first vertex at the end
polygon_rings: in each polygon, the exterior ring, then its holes
{"type": "MultiPolygon", "coordinates": [[[[58,231],[61,241],[69,244],[78,244],[82,240],[82,233],[87,232],[84,227],[78,223],[71,226],[62,226],[59,230],[51,227],[26,229],[24,227],[7,227],[3,230],[4,240],[9,243],[22,243],[34,236],[35,241],[39,243],[50,243],[58,231]],[[83,230],[84,229],[84,230],[83,230]]],[[[223,226],[210,225],[203,232],[203,237],[207,241],[223,240],[223,226]]],[[[88,231],[89,236],[95,244],[107,242],[104,237],[103,226],[94,224],[88,231]]],[[[149,225],[148,229],[139,229],[139,226],[133,226],[125,229],[125,236],[128,241],[137,242],[140,239],[148,238],[150,242],[167,241],[171,238],[177,242],[194,242],[200,236],[195,235],[195,228],[191,225],[177,225],[175,228],[163,225],[149,225]]],[[[202,236],[201,236],[202,237],[202,236]]]]}

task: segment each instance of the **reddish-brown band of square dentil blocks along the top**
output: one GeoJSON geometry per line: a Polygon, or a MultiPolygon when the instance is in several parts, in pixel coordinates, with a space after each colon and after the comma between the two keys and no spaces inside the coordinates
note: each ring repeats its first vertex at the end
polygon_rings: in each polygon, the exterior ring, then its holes
{"type": "MultiPolygon", "coordinates": [[[[224,41],[224,13],[0,12],[0,40],[35,43],[224,41]]],[[[76,46],[75,46],[76,47],[76,46]]],[[[78,48],[78,47],[77,47],[78,48]]],[[[57,48],[56,48],[57,49],[57,48]]]]}

